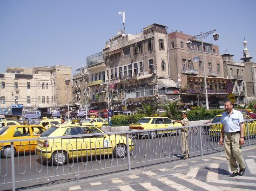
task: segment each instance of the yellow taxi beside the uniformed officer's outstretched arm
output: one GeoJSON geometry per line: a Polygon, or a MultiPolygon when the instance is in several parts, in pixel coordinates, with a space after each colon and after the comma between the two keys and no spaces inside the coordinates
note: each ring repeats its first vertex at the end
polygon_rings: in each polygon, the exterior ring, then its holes
{"type": "MultiPolygon", "coordinates": [[[[151,117],[143,117],[136,123],[130,123],[129,129],[130,130],[150,130],[150,129],[157,129],[157,128],[168,128],[168,127],[180,127],[182,126],[181,123],[172,123],[168,117],[162,116],[151,116],[151,117]]],[[[175,133],[176,130],[168,131],[169,133],[175,133]]],[[[167,131],[161,131],[160,133],[167,133],[167,131]]],[[[142,133],[139,133],[143,135],[142,133]]],[[[150,131],[149,137],[154,139],[157,135],[156,131],[150,131]]]]}

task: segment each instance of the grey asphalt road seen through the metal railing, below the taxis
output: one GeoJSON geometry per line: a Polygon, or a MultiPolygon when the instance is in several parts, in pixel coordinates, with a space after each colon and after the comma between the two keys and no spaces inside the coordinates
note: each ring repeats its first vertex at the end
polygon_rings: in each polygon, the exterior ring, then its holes
{"type": "MultiPolygon", "coordinates": [[[[150,139],[147,136],[132,138],[135,148],[130,152],[131,167],[147,166],[180,159],[182,156],[179,135],[165,134],[162,137],[150,139]]],[[[222,150],[214,140],[209,141],[209,135],[202,134],[202,148],[204,154],[222,150]]],[[[189,134],[190,157],[201,156],[201,144],[198,134],[189,134]]],[[[21,155],[21,153],[20,153],[21,155]]],[[[34,153],[23,156],[16,155],[15,181],[16,188],[29,188],[33,185],[44,184],[54,181],[66,181],[78,177],[95,176],[97,174],[117,172],[128,169],[128,157],[115,159],[113,155],[88,156],[88,158],[69,159],[64,166],[53,166],[51,163],[42,161],[40,156],[34,153]],[[79,172],[79,173],[77,173],[79,172]],[[25,180],[25,181],[24,181],[25,180]]],[[[184,160],[180,160],[181,163],[184,160]]],[[[0,184],[12,182],[11,159],[0,159],[0,184]],[[3,178],[4,177],[4,178],[3,178]]],[[[0,185],[0,190],[11,189],[11,184],[0,185]]]]}

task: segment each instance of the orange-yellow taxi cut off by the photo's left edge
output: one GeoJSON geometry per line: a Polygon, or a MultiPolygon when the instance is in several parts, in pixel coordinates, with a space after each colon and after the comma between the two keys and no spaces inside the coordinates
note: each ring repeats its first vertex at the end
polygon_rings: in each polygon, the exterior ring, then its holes
{"type": "MultiPolygon", "coordinates": [[[[12,125],[0,129],[0,140],[15,140],[36,138],[46,130],[40,125],[12,125]]],[[[15,152],[33,151],[37,146],[37,140],[14,142],[15,152]]],[[[11,157],[11,143],[0,143],[1,156],[4,158],[11,157]]]]}

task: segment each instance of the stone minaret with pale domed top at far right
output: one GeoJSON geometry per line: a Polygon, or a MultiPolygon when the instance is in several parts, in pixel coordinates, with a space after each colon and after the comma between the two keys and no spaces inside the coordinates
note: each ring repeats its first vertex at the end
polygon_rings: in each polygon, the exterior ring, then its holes
{"type": "Polygon", "coordinates": [[[254,100],[256,99],[256,63],[251,61],[252,57],[250,57],[249,50],[246,47],[247,41],[245,39],[243,45],[243,58],[241,60],[244,64],[247,100],[254,100]]]}

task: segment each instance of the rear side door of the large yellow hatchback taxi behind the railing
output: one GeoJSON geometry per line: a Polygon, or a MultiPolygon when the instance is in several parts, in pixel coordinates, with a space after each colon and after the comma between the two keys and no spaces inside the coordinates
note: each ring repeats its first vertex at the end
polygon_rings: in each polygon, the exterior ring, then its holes
{"type": "MultiPolygon", "coordinates": [[[[81,127],[68,127],[63,136],[66,135],[81,135],[84,131],[81,127]]],[[[62,149],[67,150],[69,156],[75,157],[81,155],[81,144],[83,139],[80,136],[74,138],[62,138],[62,149]]],[[[59,148],[58,148],[59,149],[59,148]]]]}

